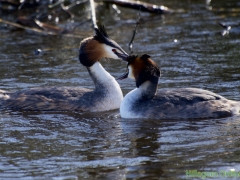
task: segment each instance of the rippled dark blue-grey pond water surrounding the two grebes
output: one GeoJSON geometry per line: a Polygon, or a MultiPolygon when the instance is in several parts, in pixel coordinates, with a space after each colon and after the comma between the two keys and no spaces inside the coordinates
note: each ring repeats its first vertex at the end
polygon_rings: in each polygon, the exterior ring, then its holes
{"type": "MultiPolygon", "coordinates": [[[[133,44],[134,53],[148,53],[160,65],[159,88],[197,87],[240,100],[240,27],[222,36],[223,28],[217,24],[240,24],[240,2],[161,3],[182,12],[141,13],[133,44]]],[[[121,14],[99,6],[97,17],[110,37],[128,51],[139,15],[135,10],[119,9],[121,14]]],[[[93,88],[78,62],[79,42],[93,33],[91,22],[78,30],[83,36],[71,38],[0,24],[0,89],[93,88]],[[42,50],[39,55],[34,54],[37,49],[42,50]]],[[[114,77],[125,72],[124,62],[102,64],[114,77]]],[[[119,84],[124,94],[135,87],[131,79],[119,84]]],[[[122,119],[119,110],[0,114],[0,179],[237,179],[239,148],[239,116],[156,121],[122,119]]]]}

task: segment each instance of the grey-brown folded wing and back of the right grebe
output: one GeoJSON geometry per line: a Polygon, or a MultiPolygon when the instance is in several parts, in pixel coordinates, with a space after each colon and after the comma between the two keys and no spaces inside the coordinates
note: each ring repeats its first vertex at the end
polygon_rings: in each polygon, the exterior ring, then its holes
{"type": "Polygon", "coordinates": [[[154,119],[199,119],[231,116],[239,109],[237,106],[239,102],[207,90],[176,88],[159,89],[145,109],[154,119]]]}

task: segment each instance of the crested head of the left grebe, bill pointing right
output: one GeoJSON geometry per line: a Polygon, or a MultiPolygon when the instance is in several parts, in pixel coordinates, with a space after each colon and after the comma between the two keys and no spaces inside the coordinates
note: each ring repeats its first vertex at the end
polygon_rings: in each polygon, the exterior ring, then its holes
{"type": "Polygon", "coordinates": [[[104,26],[95,28],[95,35],[81,41],[79,60],[84,66],[90,67],[102,58],[127,58],[128,54],[109,38],[104,26]]]}

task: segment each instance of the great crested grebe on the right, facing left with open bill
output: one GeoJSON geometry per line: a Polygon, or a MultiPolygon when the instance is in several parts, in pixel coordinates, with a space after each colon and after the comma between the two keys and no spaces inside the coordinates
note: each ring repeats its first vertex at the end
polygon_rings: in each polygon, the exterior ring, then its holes
{"type": "Polygon", "coordinates": [[[240,102],[228,100],[207,90],[157,90],[160,70],[147,54],[122,59],[128,62],[127,72],[119,79],[134,78],[137,86],[123,98],[120,106],[122,118],[200,119],[239,114],[240,102]]]}

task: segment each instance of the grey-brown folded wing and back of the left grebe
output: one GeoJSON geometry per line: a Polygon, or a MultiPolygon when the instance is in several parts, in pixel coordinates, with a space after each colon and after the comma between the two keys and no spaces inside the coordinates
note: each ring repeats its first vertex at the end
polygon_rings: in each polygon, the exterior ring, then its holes
{"type": "Polygon", "coordinates": [[[92,90],[79,87],[36,87],[9,93],[4,107],[26,111],[84,111],[78,100],[92,90]]]}

